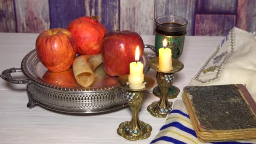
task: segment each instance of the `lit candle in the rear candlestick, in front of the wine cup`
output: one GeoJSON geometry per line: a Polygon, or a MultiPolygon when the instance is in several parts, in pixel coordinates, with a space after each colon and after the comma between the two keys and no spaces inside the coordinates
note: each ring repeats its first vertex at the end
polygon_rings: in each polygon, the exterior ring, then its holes
{"type": "Polygon", "coordinates": [[[171,60],[171,49],[165,48],[167,45],[166,39],[163,40],[164,48],[159,49],[159,70],[167,72],[173,69],[171,60]]]}

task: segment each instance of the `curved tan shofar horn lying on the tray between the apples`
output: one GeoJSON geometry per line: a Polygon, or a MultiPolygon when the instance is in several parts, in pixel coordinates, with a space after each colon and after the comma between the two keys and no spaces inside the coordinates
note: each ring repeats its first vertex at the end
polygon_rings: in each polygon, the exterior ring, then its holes
{"type": "Polygon", "coordinates": [[[95,78],[93,70],[102,63],[101,54],[83,55],[75,58],[73,71],[77,83],[83,87],[89,87],[95,78]]]}

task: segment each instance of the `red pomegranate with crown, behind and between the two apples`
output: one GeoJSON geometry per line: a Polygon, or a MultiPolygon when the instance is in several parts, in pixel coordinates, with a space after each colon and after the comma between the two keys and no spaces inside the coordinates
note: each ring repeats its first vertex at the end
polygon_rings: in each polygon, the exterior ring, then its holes
{"type": "Polygon", "coordinates": [[[107,32],[103,24],[98,22],[98,16],[83,16],[71,21],[67,29],[75,37],[77,53],[98,54],[101,51],[101,40],[107,32]]]}

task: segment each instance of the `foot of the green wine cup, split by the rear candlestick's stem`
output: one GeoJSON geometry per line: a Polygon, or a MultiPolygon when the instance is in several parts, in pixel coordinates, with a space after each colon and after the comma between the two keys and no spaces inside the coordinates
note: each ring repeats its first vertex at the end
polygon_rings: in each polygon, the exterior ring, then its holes
{"type": "MultiPolygon", "coordinates": [[[[172,85],[171,88],[169,88],[169,90],[168,90],[167,99],[175,99],[178,96],[179,92],[180,92],[179,88],[172,85]]],[[[158,98],[161,97],[161,91],[160,91],[159,86],[156,86],[153,89],[153,94],[158,98]]]]}

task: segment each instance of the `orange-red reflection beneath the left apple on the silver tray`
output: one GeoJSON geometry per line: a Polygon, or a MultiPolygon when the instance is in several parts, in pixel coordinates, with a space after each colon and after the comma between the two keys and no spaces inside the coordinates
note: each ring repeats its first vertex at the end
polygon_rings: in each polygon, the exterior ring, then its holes
{"type": "Polygon", "coordinates": [[[51,72],[48,70],[45,72],[42,79],[53,85],[57,84],[68,87],[81,87],[75,80],[72,67],[64,72],[51,72]]]}

